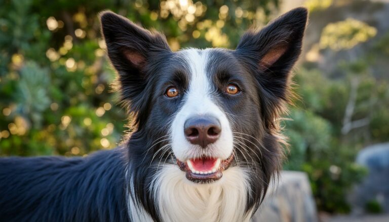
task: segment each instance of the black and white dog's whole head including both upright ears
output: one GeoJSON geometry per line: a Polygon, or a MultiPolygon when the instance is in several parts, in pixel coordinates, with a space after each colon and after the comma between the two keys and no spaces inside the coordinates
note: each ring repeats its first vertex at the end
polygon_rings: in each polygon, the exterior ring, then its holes
{"type": "Polygon", "coordinates": [[[306,9],[297,8],[245,33],[236,50],[172,52],[164,35],[102,13],[108,56],[136,125],[134,173],[147,181],[145,171],[168,162],[191,182],[212,183],[237,166],[261,199],[283,156],[278,119],[306,20],[306,9]]]}

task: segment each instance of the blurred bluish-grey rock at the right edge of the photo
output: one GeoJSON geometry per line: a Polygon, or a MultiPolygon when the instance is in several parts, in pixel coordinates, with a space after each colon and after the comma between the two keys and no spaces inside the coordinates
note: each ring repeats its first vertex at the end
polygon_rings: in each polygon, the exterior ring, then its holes
{"type": "Polygon", "coordinates": [[[389,143],[366,147],[358,153],[356,162],[367,167],[368,175],[349,195],[355,213],[363,213],[366,202],[372,200],[389,212],[389,143]]]}

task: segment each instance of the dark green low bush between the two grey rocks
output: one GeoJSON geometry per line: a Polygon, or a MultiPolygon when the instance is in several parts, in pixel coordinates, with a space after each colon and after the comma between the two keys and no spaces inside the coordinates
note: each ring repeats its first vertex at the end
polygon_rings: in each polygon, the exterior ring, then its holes
{"type": "Polygon", "coordinates": [[[303,164],[302,170],[309,175],[318,208],[348,213],[351,208],[345,196],[353,184],[363,179],[366,170],[353,163],[355,154],[347,148],[330,148],[316,155],[303,164]]]}

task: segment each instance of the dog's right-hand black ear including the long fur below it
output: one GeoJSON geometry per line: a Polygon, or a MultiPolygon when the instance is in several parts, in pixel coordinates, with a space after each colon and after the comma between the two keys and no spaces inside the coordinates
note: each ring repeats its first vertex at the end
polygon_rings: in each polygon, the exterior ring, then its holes
{"type": "Polygon", "coordinates": [[[288,100],[289,73],[301,52],[306,21],[307,10],[296,8],[260,31],[246,32],[236,49],[238,58],[260,84],[262,113],[268,126],[274,124],[288,100]]]}

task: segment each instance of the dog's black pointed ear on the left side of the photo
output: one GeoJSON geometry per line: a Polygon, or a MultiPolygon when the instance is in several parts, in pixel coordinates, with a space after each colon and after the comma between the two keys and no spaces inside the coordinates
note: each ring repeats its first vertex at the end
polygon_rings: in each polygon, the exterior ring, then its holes
{"type": "Polygon", "coordinates": [[[102,12],[100,20],[108,57],[119,73],[122,102],[130,103],[130,111],[137,113],[151,61],[166,58],[171,50],[163,34],[139,27],[123,16],[102,12]]]}

